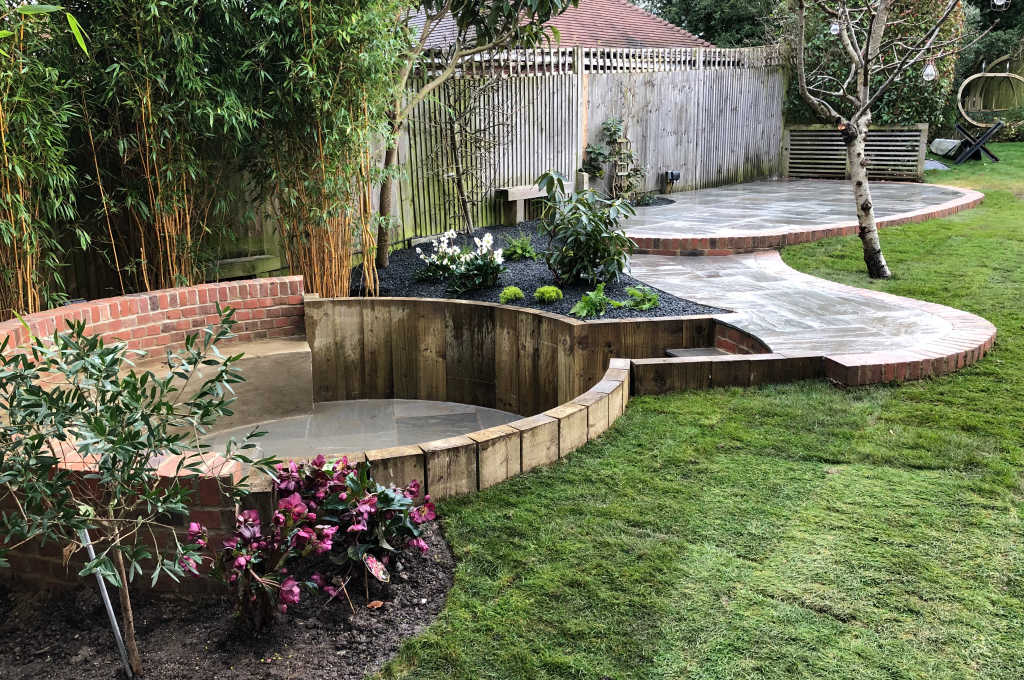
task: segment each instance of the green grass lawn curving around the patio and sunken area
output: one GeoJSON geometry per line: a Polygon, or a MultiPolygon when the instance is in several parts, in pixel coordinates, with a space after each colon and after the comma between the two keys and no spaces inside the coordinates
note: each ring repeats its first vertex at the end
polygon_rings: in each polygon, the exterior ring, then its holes
{"type": "Polygon", "coordinates": [[[784,253],[984,315],[989,356],[634,399],[569,460],[442,505],[456,586],[383,676],[1021,678],[1024,144],[993,148],[930,177],[981,208],[883,231],[892,281],[853,238],[784,253]]]}

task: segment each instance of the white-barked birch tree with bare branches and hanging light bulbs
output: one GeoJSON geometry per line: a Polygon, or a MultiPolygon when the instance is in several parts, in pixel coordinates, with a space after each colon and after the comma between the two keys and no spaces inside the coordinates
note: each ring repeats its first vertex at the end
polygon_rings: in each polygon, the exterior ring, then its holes
{"type": "Polygon", "coordinates": [[[794,46],[800,93],[814,113],[834,124],[846,145],[850,181],[857,206],[858,236],[864,263],[872,279],[889,279],[892,272],[882,253],[878,222],[864,152],[871,109],[890,86],[916,73],[926,80],[936,77],[935,61],[955,54],[961,37],[943,36],[942,28],[959,11],[959,0],[948,0],[936,11],[927,1],[899,0],[796,0],[794,46]],[[829,23],[829,33],[842,48],[843,71],[837,76],[823,59],[808,66],[808,9],[818,9],[829,23]]]}

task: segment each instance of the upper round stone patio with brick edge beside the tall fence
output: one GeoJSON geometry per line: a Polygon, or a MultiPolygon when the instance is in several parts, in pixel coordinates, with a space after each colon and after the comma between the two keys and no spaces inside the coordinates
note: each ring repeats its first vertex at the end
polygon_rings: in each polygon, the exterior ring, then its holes
{"type": "MultiPolygon", "coordinates": [[[[731,255],[856,233],[848,181],[757,181],[673,195],[637,209],[627,233],[640,253],[731,255]]],[[[940,184],[871,182],[880,226],[942,217],[974,207],[978,192],[940,184]]]]}

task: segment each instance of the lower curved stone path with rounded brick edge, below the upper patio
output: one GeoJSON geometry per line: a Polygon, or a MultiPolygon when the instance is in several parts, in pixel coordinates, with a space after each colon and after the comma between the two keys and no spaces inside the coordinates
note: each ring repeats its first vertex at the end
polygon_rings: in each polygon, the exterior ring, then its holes
{"type": "Polygon", "coordinates": [[[949,373],[981,358],[995,338],[995,327],[975,314],[817,279],[788,267],[776,251],[636,255],[631,273],[730,309],[719,317],[764,342],[773,352],[764,356],[822,357],[824,375],[845,384],[949,373]]]}

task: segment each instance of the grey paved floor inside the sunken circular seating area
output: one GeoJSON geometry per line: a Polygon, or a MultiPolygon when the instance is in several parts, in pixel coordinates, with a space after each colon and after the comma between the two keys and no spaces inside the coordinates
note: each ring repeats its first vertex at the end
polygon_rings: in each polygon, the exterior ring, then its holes
{"type": "MultiPolygon", "coordinates": [[[[255,440],[279,458],[313,458],[432,441],[504,425],[522,416],[447,401],[415,399],[353,399],[325,401],[307,416],[283,418],[259,425],[266,436],[255,440]]],[[[252,427],[214,435],[214,450],[230,437],[241,439],[252,427]]]]}

